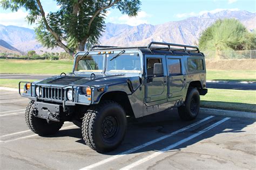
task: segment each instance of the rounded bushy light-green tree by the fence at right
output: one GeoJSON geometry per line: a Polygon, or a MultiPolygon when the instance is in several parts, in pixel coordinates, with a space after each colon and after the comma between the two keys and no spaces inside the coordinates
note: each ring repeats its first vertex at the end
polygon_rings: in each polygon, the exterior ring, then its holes
{"type": "Polygon", "coordinates": [[[244,50],[255,48],[255,34],[246,30],[237,19],[217,20],[201,33],[199,47],[201,50],[244,50]]]}

